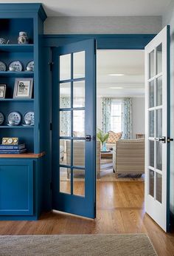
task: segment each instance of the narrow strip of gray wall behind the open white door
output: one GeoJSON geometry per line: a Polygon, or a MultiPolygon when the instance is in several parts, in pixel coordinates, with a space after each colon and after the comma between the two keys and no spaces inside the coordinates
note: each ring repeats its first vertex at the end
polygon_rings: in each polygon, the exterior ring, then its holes
{"type": "MultiPolygon", "coordinates": [[[[170,24],[170,132],[174,138],[174,2],[163,16],[163,26],[170,24]]],[[[174,215],[174,142],[170,144],[170,210],[174,215]]]]}

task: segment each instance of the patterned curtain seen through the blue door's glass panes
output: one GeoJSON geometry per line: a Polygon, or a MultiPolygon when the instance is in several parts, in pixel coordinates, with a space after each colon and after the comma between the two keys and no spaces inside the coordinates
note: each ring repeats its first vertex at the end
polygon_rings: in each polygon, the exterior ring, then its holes
{"type": "MultiPolygon", "coordinates": [[[[60,98],[61,108],[70,107],[70,98],[60,98]]],[[[71,136],[71,111],[60,112],[60,136],[71,136]]]]}

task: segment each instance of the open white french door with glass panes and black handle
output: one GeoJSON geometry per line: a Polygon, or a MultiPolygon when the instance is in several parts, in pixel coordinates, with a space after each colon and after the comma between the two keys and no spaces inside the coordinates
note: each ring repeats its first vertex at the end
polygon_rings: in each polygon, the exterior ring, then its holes
{"type": "Polygon", "coordinates": [[[145,212],[169,228],[170,27],[145,47],[145,212]]]}

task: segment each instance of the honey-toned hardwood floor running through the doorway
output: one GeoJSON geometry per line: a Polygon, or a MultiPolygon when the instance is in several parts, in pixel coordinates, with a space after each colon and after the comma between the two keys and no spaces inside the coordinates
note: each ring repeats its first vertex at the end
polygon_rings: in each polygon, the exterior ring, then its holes
{"type": "Polygon", "coordinates": [[[54,211],[38,221],[0,221],[0,235],[101,233],[146,233],[159,256],[174,255],[174,232],[165,234],[145,214],[142,181],[97,181],[95,220],[54,211]]]}

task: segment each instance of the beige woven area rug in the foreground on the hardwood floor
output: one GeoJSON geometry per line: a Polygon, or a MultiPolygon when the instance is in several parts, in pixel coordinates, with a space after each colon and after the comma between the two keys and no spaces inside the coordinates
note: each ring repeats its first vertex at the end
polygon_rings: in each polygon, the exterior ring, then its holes
{"type": "Polygon", "coordinates": [[[147,235],[4,235],[1,256],[155,256],[147,235]]]}

